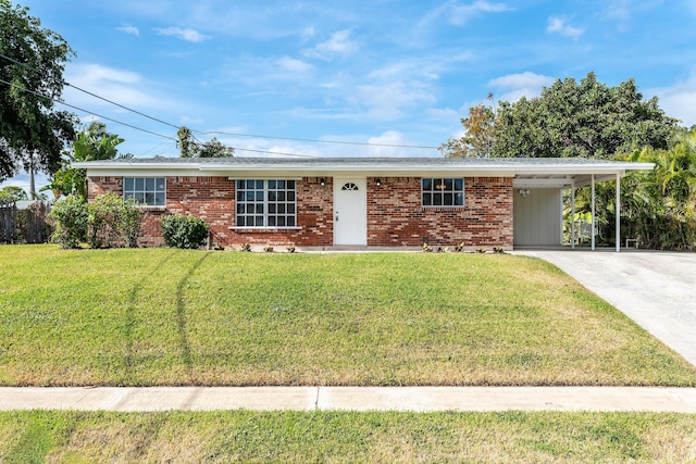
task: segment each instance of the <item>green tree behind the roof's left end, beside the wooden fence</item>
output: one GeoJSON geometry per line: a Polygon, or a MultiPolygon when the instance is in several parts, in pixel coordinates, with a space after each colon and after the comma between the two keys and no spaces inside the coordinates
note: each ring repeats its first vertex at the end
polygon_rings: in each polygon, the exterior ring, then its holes
{"type": "MultiPolygon", "coordinates": [[[[77,133],[71,150],[63,152],[63,166],[53,174],[51,183],[42,190],[52,190],[55,198],[76,195],[87,199],[87,174],[85,170],[70,167],[71,163],[121,158],[116,147],[123,141],[117,135],[109,134],[105,124],[91,122],[77,133]]],[[[132,155],[125,158],[128,156],[132,155]]]]}

